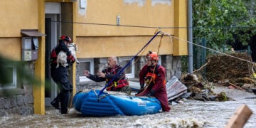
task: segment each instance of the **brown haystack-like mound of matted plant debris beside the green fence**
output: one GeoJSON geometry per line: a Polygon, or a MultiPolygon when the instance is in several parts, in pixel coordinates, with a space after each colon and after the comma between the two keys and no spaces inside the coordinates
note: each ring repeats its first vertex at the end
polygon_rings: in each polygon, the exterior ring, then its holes
{"type": "Polygon", "coordinates": [[[206,79],[210,82],[252,83],[250,77],[255,65],[246,62],[251,61],[246,53],[233,53],[228,55],[213,55],[207,60],[206,79]]]}

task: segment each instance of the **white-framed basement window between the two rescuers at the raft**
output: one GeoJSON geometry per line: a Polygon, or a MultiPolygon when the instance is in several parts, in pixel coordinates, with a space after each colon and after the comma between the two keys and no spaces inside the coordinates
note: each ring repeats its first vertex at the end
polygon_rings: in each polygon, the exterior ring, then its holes
{"type": "MultiPolygon", "coordinates": [[[[130,60],[132,60],[132,57],[120,57],[119,65],[121,65],[122,68],[124,68],[124,66],[130,62],[130,60]]],[[[132,60],[132,62],[129,65],[127,65],[127,68],[124,69],[127,78],[134,78],[134,68],[134,60],[132,60]]]]}

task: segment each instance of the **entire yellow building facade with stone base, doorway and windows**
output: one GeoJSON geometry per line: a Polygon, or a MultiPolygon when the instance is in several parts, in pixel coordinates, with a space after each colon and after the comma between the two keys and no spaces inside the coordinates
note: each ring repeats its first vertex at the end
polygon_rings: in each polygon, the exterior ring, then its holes
{"type": "Polygon", "coordinates": [[[136,80],[149,50],[159,51],[167,77],[181,76],[181,55],[187,55],[186,0],[9,0],[0,1],[0,55],[25,61],[37,84],[12,82],[0,88],[15,90],[12,97],[0,95],[0,114],[45,114],[58,89],[50,78],[50,50],[61,35],[68,35],[77,47],[80,65],[70,70],[73,94],[100,84],[87,80],[83,70],[96,73],[115,55],[120,65],[129,63],[156,31],[160,34],[126,69],[129,80],[136,80]],[[182,28],[179,28],[182,27],[182,28]],[[169,36],[171,35],[171,36],[169,36]],[[175,36],[181,38],[172,38],[175,36]],[[9,86],[9,87],[7,87],[9,86]],[[7,87],[7,88],[6,88],[7,87]],[[18,91],[17,91],[18,90],[18,91]]]}

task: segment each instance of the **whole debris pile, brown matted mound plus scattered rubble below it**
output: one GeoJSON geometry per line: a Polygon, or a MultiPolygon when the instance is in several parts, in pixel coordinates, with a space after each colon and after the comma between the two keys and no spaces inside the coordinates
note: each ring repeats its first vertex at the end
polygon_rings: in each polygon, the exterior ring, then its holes
{"type": "Polygon", "coordinates": [[[250,63],[251,58],[246,53],[233,53],[230,56],[212,55],[207,60],[207,63],[195,70],[194,74],[181,77],[181,82],[188,87],[188,92],[191,92],[191,98],[203,101],[228,100],[225,92],[215,94],[211,90],[213,85],[223,85],[247,92],[255,91],[256,94],[256,68],[254,63],[250,63]],[[201,77],[202,74],[205,76],[204,79],[201,77]]]}

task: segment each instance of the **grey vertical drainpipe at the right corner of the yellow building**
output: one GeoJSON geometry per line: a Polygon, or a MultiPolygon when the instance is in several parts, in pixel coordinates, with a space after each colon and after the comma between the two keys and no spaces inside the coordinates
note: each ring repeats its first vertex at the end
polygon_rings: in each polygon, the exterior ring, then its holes
{"type": "Polygon", "coordinates": [[[192,0],[188,0],[188,73],[193,73],[192,0]]]}

